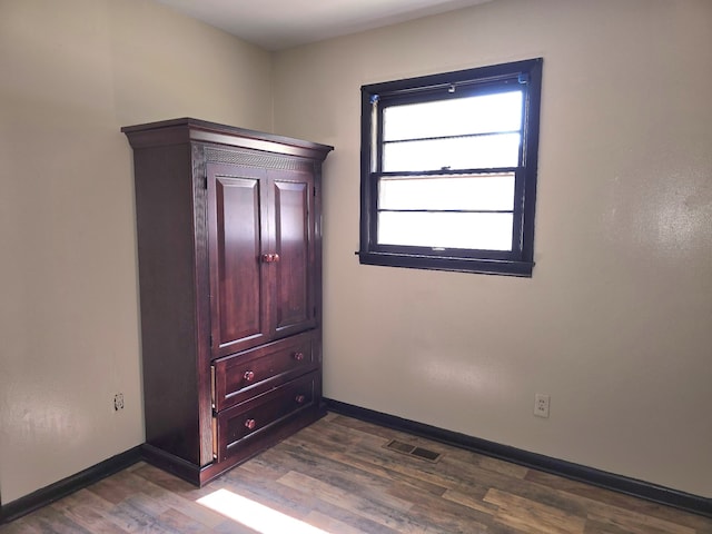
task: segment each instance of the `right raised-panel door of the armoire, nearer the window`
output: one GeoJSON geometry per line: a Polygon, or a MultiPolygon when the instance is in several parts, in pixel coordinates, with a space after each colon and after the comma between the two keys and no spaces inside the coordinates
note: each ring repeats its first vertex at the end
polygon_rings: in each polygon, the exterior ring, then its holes
{"type": "Polygon", "coordinates": [[[273,192],[275,335],[316,327],[314,178],[308,172],[268,171],[273,192]]]}

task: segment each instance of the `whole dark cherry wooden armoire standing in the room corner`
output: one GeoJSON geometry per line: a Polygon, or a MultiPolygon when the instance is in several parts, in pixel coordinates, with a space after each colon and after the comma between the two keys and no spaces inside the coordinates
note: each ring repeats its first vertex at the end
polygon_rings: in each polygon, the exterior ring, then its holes
{"type": "Polygon", "coordinates": [[[333,147],[189,118],[121,131],[144,455],[201,485],[325,414],[320,169],[333,147]]]}

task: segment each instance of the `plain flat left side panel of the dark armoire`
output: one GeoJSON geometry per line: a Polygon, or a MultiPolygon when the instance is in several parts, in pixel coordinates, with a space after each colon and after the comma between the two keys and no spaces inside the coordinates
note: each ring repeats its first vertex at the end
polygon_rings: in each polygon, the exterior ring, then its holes
{"type": "Polygon", "coordinates": [[[200,464],[190,146],[135,150],[146,443],[200,464]]]}

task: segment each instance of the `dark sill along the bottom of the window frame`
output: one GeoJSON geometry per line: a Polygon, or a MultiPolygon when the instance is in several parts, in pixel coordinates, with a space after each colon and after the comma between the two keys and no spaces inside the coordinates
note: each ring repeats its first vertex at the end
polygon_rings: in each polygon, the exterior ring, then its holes
{"type": "Polygon", "coordinates": [[[404,267],[409,269],[452,270],[455,273],[476,273],[483,275],[503,275],[532,277],[533,261],[508,259],[476,259],[456,257],[417,256],[394,253],[357,251],[362,265],[404,267]]]}

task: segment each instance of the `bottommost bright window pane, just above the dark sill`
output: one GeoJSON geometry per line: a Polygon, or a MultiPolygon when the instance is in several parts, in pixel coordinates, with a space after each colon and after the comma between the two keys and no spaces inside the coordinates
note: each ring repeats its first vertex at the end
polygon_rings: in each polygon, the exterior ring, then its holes
{"type": "Polygon", "coordinates": [[[512,214],[378,214],[378,244],[512,250],[512,214]]]}

